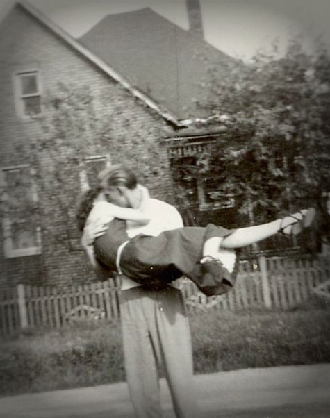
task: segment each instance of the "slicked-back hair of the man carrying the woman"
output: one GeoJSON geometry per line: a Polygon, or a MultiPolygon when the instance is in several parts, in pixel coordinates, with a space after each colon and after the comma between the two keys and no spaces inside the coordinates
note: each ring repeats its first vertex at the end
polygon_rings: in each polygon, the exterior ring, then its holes
{"type": "Polygon", "coordinates": [[[104,189],[108,187],[124,186],[128,189],[135,189],[138,180],[135,174],[122,164],[112,165],[101,171],[98,175],[100,185],[104,189]]]}

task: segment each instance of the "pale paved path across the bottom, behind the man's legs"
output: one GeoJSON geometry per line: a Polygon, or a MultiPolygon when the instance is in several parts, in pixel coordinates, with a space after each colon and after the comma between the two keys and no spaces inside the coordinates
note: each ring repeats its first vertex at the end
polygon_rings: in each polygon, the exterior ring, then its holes
{"type": "MultiPolygon", "coordinates": [[[[329,418],[330,364],[198,375],[202,418],[329,418]]],[[[173,418],[161,381],[165,418],[173,418]]],[[[0,398],[1,418],[133,418],[126,383],[0,398]]]]}

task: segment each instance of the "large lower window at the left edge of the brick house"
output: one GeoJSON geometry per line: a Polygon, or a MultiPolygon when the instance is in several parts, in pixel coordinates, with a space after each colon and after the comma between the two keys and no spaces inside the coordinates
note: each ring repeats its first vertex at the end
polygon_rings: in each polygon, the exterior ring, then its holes
{"type": "Polygon", "coordinates": [[[0,171],[3,248],[6,258],[41,253],[41,232],[35,215],[37,194],[27,165],[0,171]]]}

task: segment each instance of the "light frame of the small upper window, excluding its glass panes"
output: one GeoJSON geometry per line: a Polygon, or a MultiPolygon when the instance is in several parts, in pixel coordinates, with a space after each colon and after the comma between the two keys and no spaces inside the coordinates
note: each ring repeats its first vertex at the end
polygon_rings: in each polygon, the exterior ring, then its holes
{"type": "Polygon", "coordinates": [[[31,121],[36,117],[40,117],[42,115],[42,83],[40,77],[40,70],[36,68],[31,69],[22,69],[16,71],[13,74],[13,84],[14,84],[14,92],[15,92],[15,108],[17,112],[17,116],[22,119],[23,121],[31,121]],[[37,92],[31,94],[23,94],[22,92],[22,76],[27,74],[33,74],[36,78],[36,85],[37,85],[37,92]],[[24,99],[28,99],[31,97],[39,97],[40,99],[40,113],[36,115],[26,115],[24,112],[24,99]]]}

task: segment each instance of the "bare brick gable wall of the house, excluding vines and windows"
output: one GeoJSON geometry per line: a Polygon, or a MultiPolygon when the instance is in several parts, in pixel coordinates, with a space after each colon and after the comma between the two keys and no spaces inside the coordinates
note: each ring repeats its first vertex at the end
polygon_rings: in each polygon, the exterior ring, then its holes
{"type": "MultiPolygon", "coordinates": [[[[42,139],[46,135],[41,128],[42,119],[22,122],[15,111],[13,74],[38,69],[44,97],[56,94],[59,82],[73,88],[89,86],[97,116],[108,118],[108,144],[93,144],[91,137],[88,144],[81,140],[85,155],[110,154],[111,162],[124,162],[133,167],[140,183],[147,185],[154,197],[173,201],[166,149],[160,144],[166,127],[162,117],[135,99],[21,6],[15,6],[0,25],[0,56],[0,167],[29,160],[26,151],[20,152],[19,149],[25,150],[24,146],[31,139],[42,139]],[[115,153],[113,149],[116,149],[115,153]]],[[[52,163],[47,150],[40,152],[38,159],[41,170],[52,163]]],[[[69,181],[72,193],[78,197],[81,192],[78,172],[69,181]]],[[[51,192],[50,184],[44,193],[51,192]]],[[[44,199],[42,204],[47,201],[46,194],[40,192],[39,199],[44,199]]],[[[41,255],[6,258],[1,247],[0,287],[17,283],[69,285],[95,278],[77,242],[69,251],[63,243],[54,244],[50,240],[56,222],[60,221],[60,212],[57,215],[56,219],[47,219],[48,231],[42,234],[41,255]]],[[[1,231],[1,242],[2,234],[1,231]]]]}

